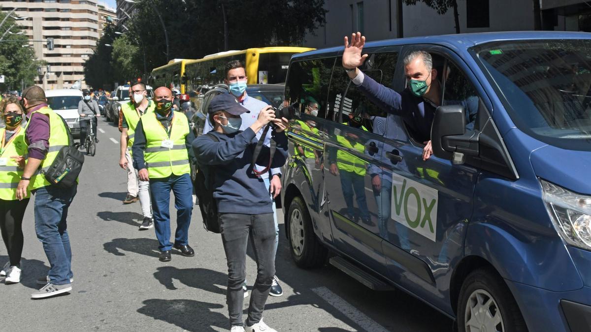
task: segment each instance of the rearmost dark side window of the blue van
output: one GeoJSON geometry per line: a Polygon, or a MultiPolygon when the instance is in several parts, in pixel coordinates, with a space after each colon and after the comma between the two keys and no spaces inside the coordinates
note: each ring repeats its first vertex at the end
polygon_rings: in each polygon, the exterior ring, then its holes
{"type": "Polygon", "coordinates": [[[311,114],[318,109],[318,117],[326,115],[326,95],[335,58],[297,61],[291,64],[285,84],[285,103],[300,103],[300,112],[311,114]]]}

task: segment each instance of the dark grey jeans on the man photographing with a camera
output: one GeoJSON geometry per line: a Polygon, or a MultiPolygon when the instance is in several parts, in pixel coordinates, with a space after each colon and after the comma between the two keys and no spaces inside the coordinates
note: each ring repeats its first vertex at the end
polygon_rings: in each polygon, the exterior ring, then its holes
{"type": "Polygon", "coordinates": [[[242,306],[246,278],[246,246],[251,240],[256,261],[256,281],[251,292],[246,325],[262,318],[265,302],[275,275],[275,224],[273,214],[220,213],[223,248],[228,260],[228,292],[226,302],[232,326],[243,326],[242,306]]]}

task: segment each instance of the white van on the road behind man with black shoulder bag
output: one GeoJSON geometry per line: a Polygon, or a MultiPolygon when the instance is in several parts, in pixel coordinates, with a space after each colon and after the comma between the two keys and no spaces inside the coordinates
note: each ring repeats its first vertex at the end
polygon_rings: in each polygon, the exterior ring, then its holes
{"type": "Polygon", "coordinates": [[[66,120],[72,136],[79,136],[78,103],[82,100],[82,91],[77,89],[47,90],[45,96],[47,97],[47,105],[66,120]]]}

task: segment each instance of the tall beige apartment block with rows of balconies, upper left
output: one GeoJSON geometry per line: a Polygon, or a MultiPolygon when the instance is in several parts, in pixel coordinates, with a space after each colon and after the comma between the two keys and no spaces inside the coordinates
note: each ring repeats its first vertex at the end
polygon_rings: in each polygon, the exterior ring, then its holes
{"type": "Polygon", "coordinates": [[[99,9],[93,0],[0,0],[2,11],[17,8],[19,21],[39,60],[49,66],[38,69],[35,83],[43,89],[61,89],[82,80],[82,64],[92,54],[99,38],[99,9]],[[45,40],[54,38],[54,49],[45,40]],[[36,41],[43,42],[36,42],[36,41]]]}

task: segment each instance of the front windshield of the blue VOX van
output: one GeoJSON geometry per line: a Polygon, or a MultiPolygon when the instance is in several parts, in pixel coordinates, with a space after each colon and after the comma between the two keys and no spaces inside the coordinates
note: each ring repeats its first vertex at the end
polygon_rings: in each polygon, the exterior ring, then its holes
{"type": "Polygon", "coordinates": [[[498,41],[472,51],[519,129],[591,151],[591,40],[498,41]]]}

